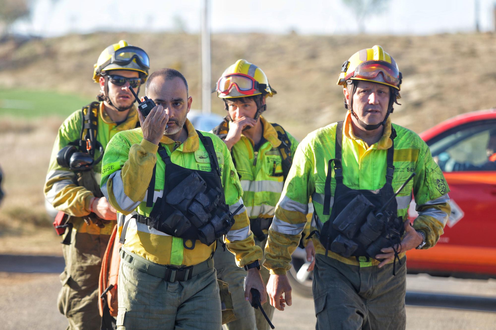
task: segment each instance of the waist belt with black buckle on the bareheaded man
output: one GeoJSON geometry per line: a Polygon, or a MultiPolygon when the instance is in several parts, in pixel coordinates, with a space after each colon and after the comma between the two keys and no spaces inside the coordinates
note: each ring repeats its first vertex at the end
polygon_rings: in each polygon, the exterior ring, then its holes
{"type": "Polygon", "coordinates": [[[163,278],[168,282],[186,281],[193,276],[205,273],[206,271],[214,268],[214,261],[212,258],[209,258],[194,266],[177,267],[155,264],[143,257],[125,250],[124,248],[121,248],[121,252],[119,254],[121,255],[122,261],[124,261],[129,267],[148,275],[163,278]]]}

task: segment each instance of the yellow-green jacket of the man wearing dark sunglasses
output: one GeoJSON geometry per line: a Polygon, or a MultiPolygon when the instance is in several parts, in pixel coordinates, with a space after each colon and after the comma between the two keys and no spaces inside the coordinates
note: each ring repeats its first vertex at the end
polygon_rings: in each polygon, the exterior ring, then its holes
{"type": "MultiPolygon", "coordinates": [[[[132,107],[127,114],[127,118],[119,125],[115,123],[105,112],[103,102],[100,103],[98,116],[98,134],[97,141],[106,149],[110,139],[120,131],[133,129],[138,122],[138,113],[135,107],[132,107]]],[[[45,197],[54,206],[56,210],[62,211],[73,217],[83,217],[90,214],[90,200],[93,193],[84,187],[80,187],[76,182],[76,175],[67,167],[62,167],[57,163],[57,154],[70,142],[81,138],[82,116],[81,110],[74,111],[67,119],[64,120],[59,133],[55,139],[50,165],[48,168],[45,182],[45,197]]],[[[100,156],[99,151],[95,152],[95,159],[100,156]]],[[[100,180],[102,163],[93,166],[93,171],[97,182],[100,180]]],[[[96,224],[86,224],[82,219],[72,219],[74,228],[78,232],[88,232],[90,234],[112,233],[115,223],[108,223],[105,228],[99,228],[96,224]]]]}

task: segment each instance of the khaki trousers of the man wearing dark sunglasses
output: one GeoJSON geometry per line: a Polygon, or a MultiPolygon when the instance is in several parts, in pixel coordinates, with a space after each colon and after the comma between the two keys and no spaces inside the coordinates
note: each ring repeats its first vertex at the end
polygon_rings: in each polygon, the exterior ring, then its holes
{"type": "MultiPolygon", "coordinates": [[[[100,231],[95,227],[94,231],[100,231]]],[[[67,330],[100,329],[98,276],[110,235],[81,233],[75,229],[70,234],[70,245],[62,244],[65,269],[60,275],[62,289],[57,305],[69,322],[67,330]]]]}

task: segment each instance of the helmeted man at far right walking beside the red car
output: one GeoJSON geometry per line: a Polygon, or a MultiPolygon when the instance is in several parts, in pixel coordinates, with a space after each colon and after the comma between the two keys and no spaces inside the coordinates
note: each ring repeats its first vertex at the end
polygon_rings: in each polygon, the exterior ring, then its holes
{"type": "Polygon", "coordinates": [[[344,121],[300,143],[276,207],[263,266],[270,303],[284,310],[292,303],[286,272],[312,197],[316,329],[405,329],[405,251],[433,247],[448,220],[449,188],[428,146],[391,123],[401,79],[380,46],[344,62],[344,121]]]}

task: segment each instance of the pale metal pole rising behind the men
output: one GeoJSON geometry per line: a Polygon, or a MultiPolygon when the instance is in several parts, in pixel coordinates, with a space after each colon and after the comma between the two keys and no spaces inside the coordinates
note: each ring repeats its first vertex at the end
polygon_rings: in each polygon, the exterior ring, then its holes
{"type": "Polygon", "coordinates": [[[201,10],[201,111],[210,114],[210,0],[203,0],[201,10]]]}

